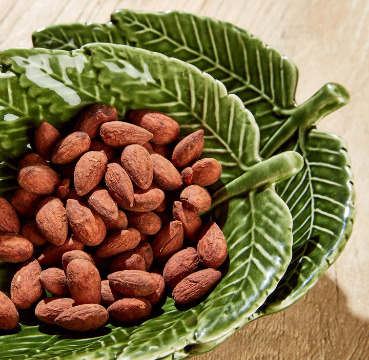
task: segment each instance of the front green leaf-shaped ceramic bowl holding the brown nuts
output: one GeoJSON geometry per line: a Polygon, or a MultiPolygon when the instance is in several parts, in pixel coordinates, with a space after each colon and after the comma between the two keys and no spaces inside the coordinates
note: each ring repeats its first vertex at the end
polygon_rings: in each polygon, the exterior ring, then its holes
{"type": "MultiPolygon", "coordinates": [[[[16,187],[16,161],[32,149],[33,130],[47,120],[68,132],[88,105],[151,108],[178,121],[181,136],[204,129],[204,156],[222,164],[212,188],[216,219],[228,241],[223,277],[206,299],[176,307],[170,297],[151,318],[91,334],[38,323],[21,311],[20,326],[0,335],[0,359],[186,358],[206,352],[239,329],[275,289],[292,256],[292,217],[273,186],[298,173],[293,151],[264,160],[253,115],[211,75],[165,55],[133,47],[90,44],[72,52],[0,52],[0,179],[2,196],[16,187]],[[221,314],[221,316],[219,316],[221,314]]],[[[14,267],[0,264],[7,292],[14,267]]]]}

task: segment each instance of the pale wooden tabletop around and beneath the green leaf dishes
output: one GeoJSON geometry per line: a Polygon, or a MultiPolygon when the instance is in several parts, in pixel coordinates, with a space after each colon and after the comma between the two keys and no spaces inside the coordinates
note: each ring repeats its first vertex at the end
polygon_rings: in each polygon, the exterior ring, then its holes
{"type": "Polygon", "coordinates": [[[185,10],[251,31],[295,61],[298,102],[328,81],[350,91],[350,104],[318,126],[347,140],[353,162],[357,218],[346,249],[293,307],[245,326],[197,360],[368,359],[369,1],[0,0],[0,49],[30,47],[31,32],[51,24],[105,23],[117,8],[185,10]]]}

